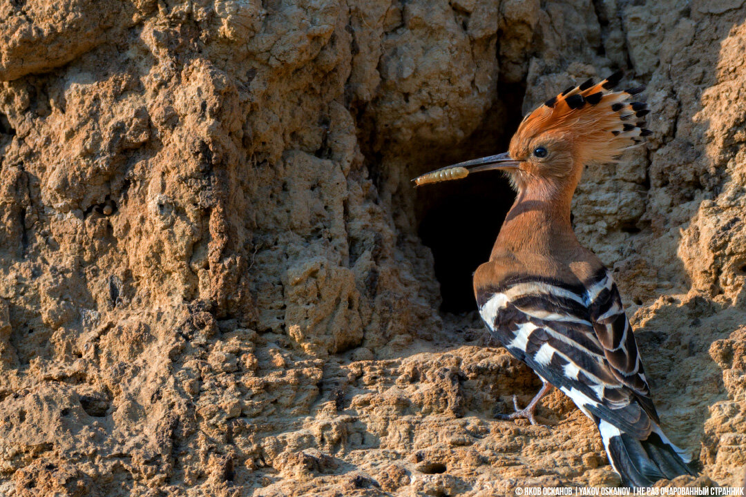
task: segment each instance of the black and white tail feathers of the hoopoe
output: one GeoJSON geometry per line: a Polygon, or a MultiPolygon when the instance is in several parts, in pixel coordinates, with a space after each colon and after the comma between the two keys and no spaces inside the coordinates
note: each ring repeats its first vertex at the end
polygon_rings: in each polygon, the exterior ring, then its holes
{"type": "Polygon", "coordinates": [[[621,480],[630,487],[652,487],[656,481],[671,480],[679,475],[692,475],[686,463],[689,455],[674,446],[658,426],[645,440],[623,433],[614,425],[598,423],[606,454],[621,480]]]}

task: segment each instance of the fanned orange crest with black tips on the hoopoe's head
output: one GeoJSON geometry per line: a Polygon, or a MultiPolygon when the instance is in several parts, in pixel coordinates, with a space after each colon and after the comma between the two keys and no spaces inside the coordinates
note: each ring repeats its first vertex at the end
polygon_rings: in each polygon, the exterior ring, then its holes
{"type": "Polygon", "coordinates": [[[645,86],[614,92],[621,71],[601,83],[587,80],[571,86],[526,115],[510,141],[510,156],[526,156],[533,139],[551,133],[574,143],[574,152],[584,164],[615,162],[623,151],[651,135],[645,128],[645,103],[630,101],[645,86]]]}

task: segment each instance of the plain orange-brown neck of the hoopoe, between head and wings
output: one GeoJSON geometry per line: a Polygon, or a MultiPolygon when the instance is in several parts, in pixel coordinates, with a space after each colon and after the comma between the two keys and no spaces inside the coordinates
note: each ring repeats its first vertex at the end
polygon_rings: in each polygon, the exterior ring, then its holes
{"type": "Polygon", "coordinates": [[[580,244],[570,223],[574,186],[551,189],[529,185],[518,192],[508,211],[492,256],[531,254],[564,259],[580,244]]]}

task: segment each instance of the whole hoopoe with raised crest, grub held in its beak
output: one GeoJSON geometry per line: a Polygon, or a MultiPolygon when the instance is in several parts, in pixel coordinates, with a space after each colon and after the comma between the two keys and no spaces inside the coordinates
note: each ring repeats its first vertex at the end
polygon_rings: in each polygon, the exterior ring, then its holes
{"type": "Polygon", "coordinates": [[[648,109],[631,101],[644,86],[613,91],[622,73],[589,79],[526,115],[507,153],[441,168],[417,185],[507,172],[515,203],[489,262],[474,273],[474,295],[489,331],[542,379],[525,417],[559,388],[598,426],[623,484],[649,487],[692,474],[689,456],[663,434],[633,330],[609,270],[580,245],[570,204],[583,167],[616,162],[651,134],[648,109]]]}

